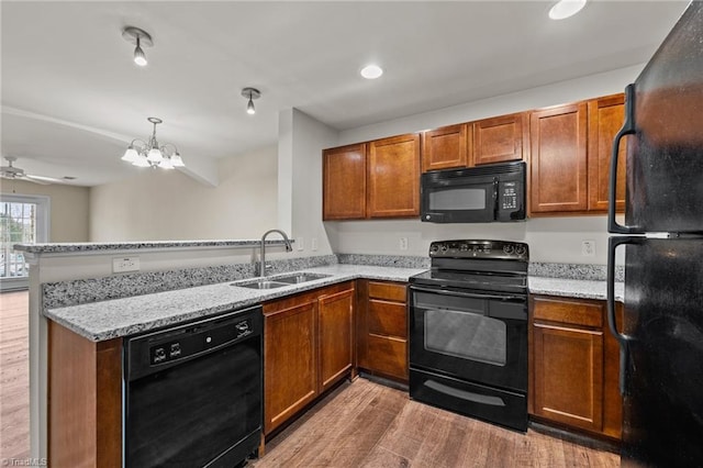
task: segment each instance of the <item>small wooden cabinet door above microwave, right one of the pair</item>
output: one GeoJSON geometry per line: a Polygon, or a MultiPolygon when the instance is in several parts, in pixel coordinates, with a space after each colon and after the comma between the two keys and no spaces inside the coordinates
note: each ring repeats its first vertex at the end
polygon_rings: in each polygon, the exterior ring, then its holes
{"type": "Polygon", "coordinates": [[[522,113],[473,123],[473,165],[520,160],[523,155],[522,113]]]}

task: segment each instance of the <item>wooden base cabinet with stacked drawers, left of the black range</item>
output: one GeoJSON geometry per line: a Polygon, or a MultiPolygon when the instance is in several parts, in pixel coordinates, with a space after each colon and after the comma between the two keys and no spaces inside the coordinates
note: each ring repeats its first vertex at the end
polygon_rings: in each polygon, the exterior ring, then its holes
{"type": "Polygon", "coordinates": [[[359,368],[408,382],[406,286],[358,280],[357,302],[359,368]]]}

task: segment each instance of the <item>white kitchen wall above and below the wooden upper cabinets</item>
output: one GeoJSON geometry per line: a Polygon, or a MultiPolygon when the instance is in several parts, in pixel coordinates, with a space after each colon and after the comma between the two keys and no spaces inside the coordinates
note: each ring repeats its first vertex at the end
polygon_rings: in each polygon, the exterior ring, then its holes
{"type": "MultiPolygon", "coordinates": [[[[622,92],[644,65],[557,82],[540,88],[411,115],[339,133],[337,145],[435,129],[547,105],[622,92]]],[[[427,255],[429,242],[449,238],[500,238],[527,242],[533,261],[606,264],[604,216],[531,219],[525,223],[429,224],[420,220],[327,222],[335,253],[427,255]],[[409,249],[400,250],[400,237],[409,249]],[[581,241],[595,241],[595,256],[581,255],[581,241]]]]}

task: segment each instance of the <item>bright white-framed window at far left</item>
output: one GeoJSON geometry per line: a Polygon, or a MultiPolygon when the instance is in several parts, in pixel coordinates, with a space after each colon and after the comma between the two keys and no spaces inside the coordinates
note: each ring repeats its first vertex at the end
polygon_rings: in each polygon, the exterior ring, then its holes
{"type": "Polygon", "coordinates": [[[0,198],[0,290],[29,285],[29,265],[15,244],[48,239],[48,197],[2,194],[0,198]]]}

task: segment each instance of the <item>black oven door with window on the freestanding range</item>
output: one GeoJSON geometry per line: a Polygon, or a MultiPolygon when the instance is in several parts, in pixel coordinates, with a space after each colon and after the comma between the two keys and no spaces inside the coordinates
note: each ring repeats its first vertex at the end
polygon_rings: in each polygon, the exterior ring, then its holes
{"type": "Polygon", "coordinates": [[[410,367],[527,391],[527,298],[410,287],[410,367]]]}

